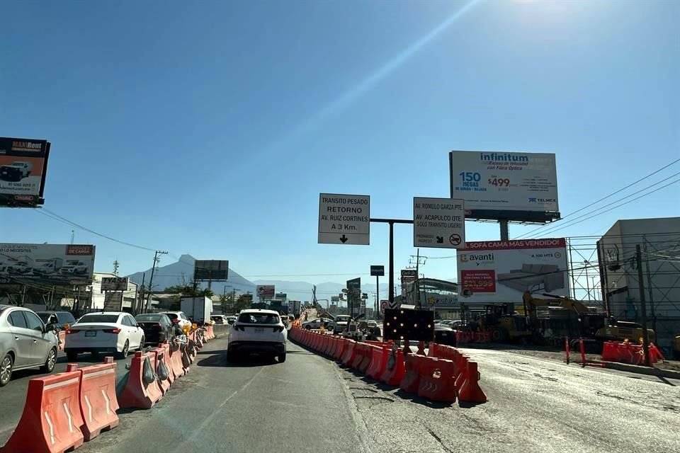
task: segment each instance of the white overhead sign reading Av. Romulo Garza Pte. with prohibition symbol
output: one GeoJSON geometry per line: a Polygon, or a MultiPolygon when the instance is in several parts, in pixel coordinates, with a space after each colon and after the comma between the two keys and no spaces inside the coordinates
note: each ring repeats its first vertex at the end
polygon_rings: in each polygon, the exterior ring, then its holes
{"type": "Polygon", "coordinates": [[[413,246],[436,248],[465,247],[463,200],[413,198],[413,246]]]}

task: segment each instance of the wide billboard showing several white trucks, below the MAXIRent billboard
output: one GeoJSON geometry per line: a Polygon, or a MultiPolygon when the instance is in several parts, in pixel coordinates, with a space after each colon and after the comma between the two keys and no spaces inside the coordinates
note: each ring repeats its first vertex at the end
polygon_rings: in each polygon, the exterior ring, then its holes
{"type": "Polygon", "coordinates": [[[89,285],[94,246],[0,243],[0,283],[89,285]]]}

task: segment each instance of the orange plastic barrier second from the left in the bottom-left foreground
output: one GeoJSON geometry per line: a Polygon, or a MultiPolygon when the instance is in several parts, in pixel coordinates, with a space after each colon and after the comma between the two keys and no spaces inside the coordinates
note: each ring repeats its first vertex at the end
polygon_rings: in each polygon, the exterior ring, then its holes
{"type": "Polygon", "coordinates": [[[80,373],[81,430],[85,440],[118,426],[118,398],[115,396],[115,363],[104,357],[103,365],[78,370],[80,373]]]}

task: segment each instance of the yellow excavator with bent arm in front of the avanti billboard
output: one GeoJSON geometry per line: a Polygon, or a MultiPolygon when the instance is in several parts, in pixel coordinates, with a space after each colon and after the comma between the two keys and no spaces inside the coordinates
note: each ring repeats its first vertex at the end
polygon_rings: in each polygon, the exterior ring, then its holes
{"type": "MultiPolygon", "coordinates": [[[[642,326],[638,323],[630,321],[616,321],[608,319],[604,314],[591,313],[588,307],[581,302],[570,299],[569,297],[560,297],[553,294],[543,294],[550,299],[539,299],[533,297],[530,292],[523,294],[523,302],[525,313],[528,319],[529,330],[538,331],[538,306],[555,306],[572,311],[577,316],[577,322],[572,330],[586,340],[591,340],[596,343],[603,341],[615,340],[623,341],[628,339],[637,342],[642,338],[642,326]]],[[[656,340],[655,332],[648,328],[647,339],[652,342],[656,340]]]]}

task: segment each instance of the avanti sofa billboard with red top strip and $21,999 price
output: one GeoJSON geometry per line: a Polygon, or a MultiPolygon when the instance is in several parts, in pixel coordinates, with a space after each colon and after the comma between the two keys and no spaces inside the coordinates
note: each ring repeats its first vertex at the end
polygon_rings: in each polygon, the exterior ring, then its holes
{"type": "Polygon", "coordinates": [[[569,296],[564,238],[468,242],[456,261],[461,303],[517,303],[525,291],[569,296]]]}

